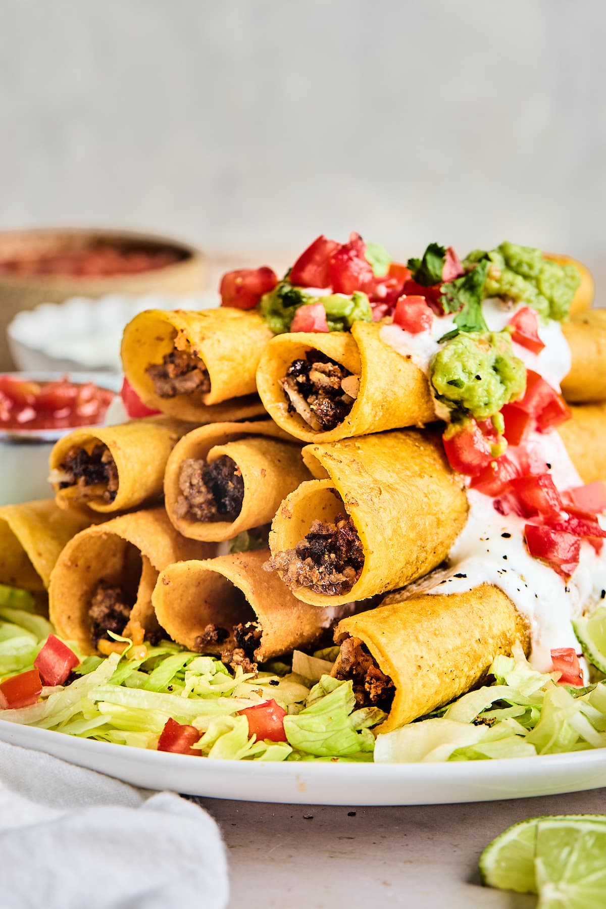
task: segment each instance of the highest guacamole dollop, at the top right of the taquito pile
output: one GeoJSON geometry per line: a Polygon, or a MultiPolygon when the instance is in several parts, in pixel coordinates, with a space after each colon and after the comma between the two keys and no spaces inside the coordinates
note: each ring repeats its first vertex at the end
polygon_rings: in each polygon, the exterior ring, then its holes
{"type": "Polygon", "coordinates": [[[508,242],[488,253],[473,250],[463,264],[472,265],[485,256],[492,266],[484,283],[484,298],[501,296],[523,302],[560,322],[568,318],[572,298],[581,284],[581,275],[574,265],[558,265],[546,259],[540,249],[508,242]]]}

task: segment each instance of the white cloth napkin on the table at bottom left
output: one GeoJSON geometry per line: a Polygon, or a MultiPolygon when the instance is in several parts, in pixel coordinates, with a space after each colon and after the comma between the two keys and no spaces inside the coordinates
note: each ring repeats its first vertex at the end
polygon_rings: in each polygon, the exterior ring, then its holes
{"type": "Polygon", "coordinates": [[[227,898],[204,809],[0,742],[5,909],[223,909],[227,898]]]}

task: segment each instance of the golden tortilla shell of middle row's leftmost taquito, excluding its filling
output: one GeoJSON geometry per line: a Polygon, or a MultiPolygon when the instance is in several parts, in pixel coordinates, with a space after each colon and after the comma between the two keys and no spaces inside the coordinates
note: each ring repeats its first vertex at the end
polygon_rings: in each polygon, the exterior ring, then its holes
{"type": "Polygon", "coordinates": [[[67,486],[54,483],[57,504],[82,504],[101,514],[126,511],[137,505],[161,498],[164,468],[169,454],[190,423],[165,416],[131,420],[115,426],[75,429],[56,443],[49,459],[51,471],[61,470],[65,456],[73,448],[84,448],[89,454],[95,445],[105,445],[114,458],[118,473],[118,490],[113,502],[106,502],[97,487],[67,486]]]}

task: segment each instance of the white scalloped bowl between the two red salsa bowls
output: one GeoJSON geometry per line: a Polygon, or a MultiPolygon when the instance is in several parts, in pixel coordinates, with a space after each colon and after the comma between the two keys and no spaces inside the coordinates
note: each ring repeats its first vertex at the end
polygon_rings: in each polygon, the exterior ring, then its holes
{"type": "Polygon", "coordinates": [[[144,309],[209,309],[217,294],[109,294],[42,303],[15,315],[7,338],[15,365],[30,372],[95,370],[119,373],[124,325],[144,309]]]}

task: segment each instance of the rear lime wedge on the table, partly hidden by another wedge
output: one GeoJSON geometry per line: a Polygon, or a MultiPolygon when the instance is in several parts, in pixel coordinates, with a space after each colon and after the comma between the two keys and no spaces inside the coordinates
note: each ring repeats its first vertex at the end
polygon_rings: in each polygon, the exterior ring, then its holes
{"type": "MultiPolygon", "coordinates": [[[[569,848],[575,842],[577,829],[582,830],[585,824],[592,824],[593,827],[603,831],[604,852],[601,857],[601,865],[606,874],[606,814],[555,814],[552,817],[531,817],[527,821],[521,821],[520,824],[513,824],[512,827],[493,839],[480,856],[482,883],[489,887],[499,887],[502,890],[514,890],[518,894],[536,894],[538,892],[535,879],[537,830],[542,824],[549,824],[549,827],[545,828],[545,835],[548,834],[548,830],[565,831],[569,848]]],[[[559,862],[561,862],[561,858],[556,860],[556,865],[559,862]]],[[[543,872],[545,877],[542,880],[546,880],[546,875],[549,873],[548,861],[542,865],[541,874],[543,872]]],[[[602,909],[605,909],[606,886],[603,893],[605,894],[604,901],[595,905],[600,905],[602,909]]],[[[544,905],[550,906],[551,904],[545,903],[544,905]]],[[[553,905],[560,904],[554,903],[553,905]]]]}

